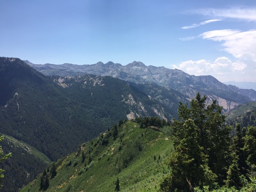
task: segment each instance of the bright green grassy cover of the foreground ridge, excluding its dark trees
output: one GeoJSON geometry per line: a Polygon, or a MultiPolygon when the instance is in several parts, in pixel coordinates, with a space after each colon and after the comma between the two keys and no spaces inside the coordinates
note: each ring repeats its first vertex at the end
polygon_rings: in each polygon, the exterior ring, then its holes
{"type": "MultiPolygon", "coordinates": [[[[107,146],[99,143],[94,147],[98,140],[95,138],[93,145],[88,142],[81,147],[82,150],[78,156],[76,153],[72,153],[58,160],[56,162],[57,175],[50,179],[50,186],[46,191],[114,191],[117,177],[120,181],[121,191],[156,190],[160,180],[169,172],[167,162],[173,150],[172,141],[167,139],[168,135],[163,132],[140,129],[139,124],[131,121],[122,124],[118,130],[117,139],[113,140],[113,137],[109,136],[107,146]],[[122,149],[118,151],[122,134],[124,135],[122,149]],[[123,158],[125,151],[129,151],[128,146],[131,146],[129,143],[134,143],[138,138],[141,141],[142,150],[134,155],[134,159],[126,168],[118,170],[120,162],[122,162],[120,159],[123,158]],[[88,154],[89,148],[93,149],[90,154],[88,154]],[[89,169],[79,175],[79,171],[84,169],[82,151],[86,153],[84,162],[89,169]],[[92,155],[93,160],[88,165],[89,155],[92,155]],[[160,160],[158,159],[159,155],[160,160]],[[154,156],[156,156],[156,160],[154,160],[154,156]],[[72,164],[66,167],[70,160],[72,164]],[[75,161],[78,164],[74,167],[75,161]]],[[[135,151],[136,148],[131,151],[133,150],[135,151]]],[[[39,191],[41,175],[20,191],[39,191]]],[[[50,178],[50,173],[47,175],[50,178]]]]}

